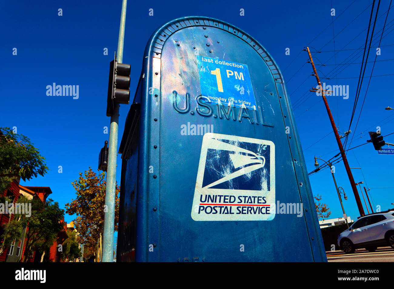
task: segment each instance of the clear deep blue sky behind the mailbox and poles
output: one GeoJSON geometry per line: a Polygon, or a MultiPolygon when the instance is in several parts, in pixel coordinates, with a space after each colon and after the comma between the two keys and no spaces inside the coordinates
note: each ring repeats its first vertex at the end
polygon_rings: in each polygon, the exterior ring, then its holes
{"type": "MultiPolygon", "coordinates": [[[[281,68],[295,109],[296,124],[310,172],[314,169],[314,155],[328,160],[336,155],[338,147],[321,97],[309,92],[317,83],[310,76],[312,67],[306,63],[307,52],[301,50],[309,45],[313,47],[312,51],[328,51],[313,54],[317,57],[316,63],[327,64],[318,66],[318,73],[321,77],[337,78],[325,80],[327,85],[349,85],[348,99],[327,97],[336,125],[343,134],[349,127],[361,68],[361,64],[357,63],[361,63],[363,51],[347,49],[364,47],[372,8],[372,1],[352,2],[211,1],[209,4],[190,2],[182,5],[179,1],[129,1],[123,62],[131,64],[133,68],[132,90],[138,83],[147,40],[163,23],[191,15],[230,22],[257,39],[281,68]],[[335,8],[335,17],[331,16],[331,7],[335,8]],[[149,16],[150,8],[154,9],[154,16],[149,16]],[[245,16],[240,16],[241,8],[245,10],[245,16]],[[335,47],[332,40],[334,35],[335,47]],[[286,48],[290,48],[290,55],[285,55],[286,48]],[[341,51],[334,57],[333,50],[341,51]],[[333,65],[342,63],[355,64],[333,65]],[[317,142],[321,138],[323,140],[317,142]]],[[[389,3],[389,0],[380,3],[380,18],[374,31],[374,39],[377,40],[372,42],[373,47],[379,43],[389,3]]],[[[15,126],[17,133],[28,136],[45,156],[51,170],[45,177],[22,182],[22,185],[50,186],[52,199],[61,206],[75,196],[71,182],[78,178],[78,173],[89,166],[97,169],[99,150],[104,140],[108,140],[108,134],[103,133],[103,127],[109,126],[110,121],[106,117],[108,64],[117,48],[120,11],[121,0],[2,1],[0,4],[0,126],[15,126]],[[63,9],[63,16],[58,16],[59,8],[63,9]],[[17,55],[13,55],[13,48],[17,48],[17,55]],[[108,48],[108,55],[103,55],[104,48],[108,48]],[[79,85],[79,98],[46,96],[46,86],[52,83],[79,85]],[[63,173],[58,173],[58,166],[63,167],[63,173]]],[[[377,56],[379,61],[375,64],[373,75],[393,73],[394,61],[389,60],[394,58],[393,29],[394,7],[387,18],[381,55],[377,56]]],[[[378,125],[383,135],[394,132],[394,110],[385,110],[387,106],[394,107],[390,89],[394,75],[372,77],[355,130],[375,55],[376,48],[371,48],[351,126],[350,136],[354,138],[350,147],[365,143],[368,130],[374,131],[378,125]]],[[[121,106],[118,144],[128,109],[128,105],[121,106]]],[[[385,140],[394,142],[394,134],[385,140]]],[[[378,155],[372,144],[348,151],[347,156],[351,167],[362,168],[362,171],[353,169],[353,175],[356,182],[364,181],[364,185],[366,183],[366,187],[371,188],[374,206],[380,205],[381,210],[392,208],[394,156],[378,155]]],[[[120,156],[117,162],[117,180],[120,183],[120,156]]],[[[357,219],[357,205],[342,162],[336,164],[335,176],[338,186],[342,186],[348,195],[348,200],[344,201],[346,213],[352,219],[357,219]]],[[[312,175],[310,182],[314,195],[321,194],[323,202],[331,209],[331,217],[342,217],[329,169],[312,175]]],[[[65,216],[65,221],[71,220],[72,217],[65,216]]]]}

